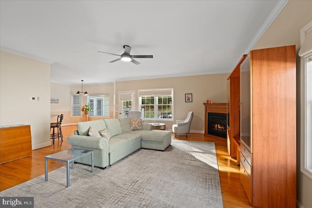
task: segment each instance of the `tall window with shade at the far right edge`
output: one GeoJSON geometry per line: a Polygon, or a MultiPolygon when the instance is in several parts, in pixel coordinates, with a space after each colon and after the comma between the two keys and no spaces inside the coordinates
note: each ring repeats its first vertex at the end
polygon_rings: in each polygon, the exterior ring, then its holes
{"type": "Polygon", "coordinates": [[[300,31],[301,48],[301,165],[300,170],[312,179],[312,21],[300,31]]]}

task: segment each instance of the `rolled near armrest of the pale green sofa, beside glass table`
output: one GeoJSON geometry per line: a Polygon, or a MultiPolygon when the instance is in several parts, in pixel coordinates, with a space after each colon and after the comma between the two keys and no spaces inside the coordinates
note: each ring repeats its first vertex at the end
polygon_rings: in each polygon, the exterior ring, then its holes
{"type": "Polygon", "coordinates": [[[70,135],[67,138],[67,142],[74,146],[94,148],[100,150],[103,150],[105,147],[107,147],[108,150],[108,141],[104,137],[70,135]]]}

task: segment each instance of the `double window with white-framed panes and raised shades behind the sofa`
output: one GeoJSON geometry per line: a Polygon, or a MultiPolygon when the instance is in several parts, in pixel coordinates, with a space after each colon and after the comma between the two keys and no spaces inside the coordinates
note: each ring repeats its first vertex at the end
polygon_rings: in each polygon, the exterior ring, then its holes
{"type": "Polygon", "coordinates": [[[139,109],[148,120],[173,120],[173,89],[139,90],[139,109]]]}

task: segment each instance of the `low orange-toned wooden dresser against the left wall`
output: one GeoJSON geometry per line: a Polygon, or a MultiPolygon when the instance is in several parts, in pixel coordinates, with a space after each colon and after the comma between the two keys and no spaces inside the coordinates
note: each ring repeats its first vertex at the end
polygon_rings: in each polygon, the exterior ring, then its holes
{"type": "Polygon", "coordinates": [[[0,127],[0,164],[31,156],[30,125],[0,127]]]}

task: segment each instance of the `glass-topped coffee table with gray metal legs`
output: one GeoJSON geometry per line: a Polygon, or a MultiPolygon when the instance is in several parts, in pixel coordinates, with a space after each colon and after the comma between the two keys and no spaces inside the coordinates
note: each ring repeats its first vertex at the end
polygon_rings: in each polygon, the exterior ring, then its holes
{"type": "Polygon", "coordinates": [[[94,172],[94,163],[93,163],[93,150],[84,150],[78,148],[72,148],[65,151],[59,151],[54,154],[50,154],[44,157],[45,165],[45,181],[48,181],[48,160],[56,160],[60,162],[66,162],[66,174],[67,174],[67,187],[69,187],[69,163],[72,162],[72,169],[74,169],[74,160],[77,160],[80,157],[84,157],[88,154],[91,154],[91,164],[92,172],[94,172]]]}

